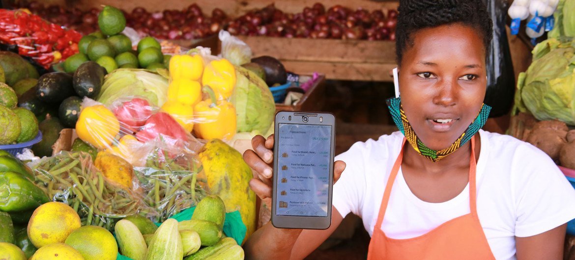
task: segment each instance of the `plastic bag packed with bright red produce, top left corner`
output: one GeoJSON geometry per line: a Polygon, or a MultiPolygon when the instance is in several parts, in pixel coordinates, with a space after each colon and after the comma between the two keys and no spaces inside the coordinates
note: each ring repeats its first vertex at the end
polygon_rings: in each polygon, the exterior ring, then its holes
{"type": "Polygon", "coordinates": [[[0,42],[17,45],[18,54],[44,68],[78,53],[82,34],[42,20],[24,9],[0,9],[0,42]]]}

